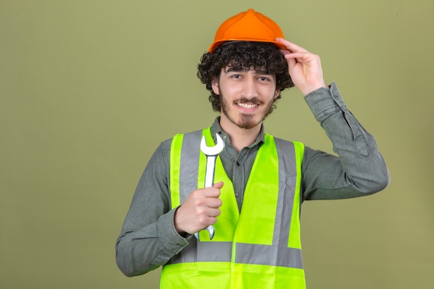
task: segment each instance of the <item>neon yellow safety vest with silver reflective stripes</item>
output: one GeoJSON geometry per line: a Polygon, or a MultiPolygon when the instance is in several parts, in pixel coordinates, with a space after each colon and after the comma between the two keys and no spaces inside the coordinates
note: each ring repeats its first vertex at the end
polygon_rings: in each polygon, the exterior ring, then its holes
{"type": "MultiPolygon", "coordinates": [[[[210,129],[177,134],[171,146],[171,207],[205,183],[200,152],[210,129]]],[[[300,243],[300,183],[304,145],[265,136],[238,211],[234,187],[220,158],[214,182],[223,181],[214,238],[201,231],[163,267],[160,288],[306,288],[300,243]]]]}

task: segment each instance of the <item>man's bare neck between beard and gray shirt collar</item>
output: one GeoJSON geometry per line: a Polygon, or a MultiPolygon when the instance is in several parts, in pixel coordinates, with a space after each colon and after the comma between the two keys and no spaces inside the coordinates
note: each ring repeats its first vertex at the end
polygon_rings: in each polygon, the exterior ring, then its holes
{"type": "Polygon", "coordinates": [[[231,121],[225,118],[220,118],[220,127],[229,136],[231,145],[240,152],[246,146],[250,146],[257,139],[259,132],[261,131],[261,123],[258,123],[254,128],[240,128],[231,121]]]}

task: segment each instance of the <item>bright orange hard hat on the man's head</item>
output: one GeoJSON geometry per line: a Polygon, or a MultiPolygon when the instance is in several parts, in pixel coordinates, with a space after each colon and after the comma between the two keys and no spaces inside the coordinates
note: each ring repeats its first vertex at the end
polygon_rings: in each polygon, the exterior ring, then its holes
{"type": "Polygon", "coordinates": [[[214,51],[223,42],[236,40],[270,42],[280,49],[286,49],[283,44],[276,42],[277,37],[284,38],[279,25],[265,15],[249,9],[230,17],[218,27],[214,42],[209,46],[208,51],[214,51]]]}

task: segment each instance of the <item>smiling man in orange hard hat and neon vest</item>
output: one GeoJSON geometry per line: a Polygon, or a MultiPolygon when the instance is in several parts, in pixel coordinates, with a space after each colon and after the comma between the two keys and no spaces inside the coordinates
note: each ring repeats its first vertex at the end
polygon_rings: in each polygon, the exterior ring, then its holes
{"type": "Polygon", "coordinates": [[[135,276],[164,265],[161,288],[305,288],[300,206],[388,186],[374,138],[324,82],[318,55],[252,9],[218,28],[198,77],[220,116],[164,141],[150,159],[116,243],[119,268],[135,276]],[[294,85],[338,157],[264,132],[281,91],[294,85]],[[216,183],[205,189],[202,135],[208,146],[216,135],[225,143],[216,183]],[[202,231],[211,225],[214,238],[202,231]]]}

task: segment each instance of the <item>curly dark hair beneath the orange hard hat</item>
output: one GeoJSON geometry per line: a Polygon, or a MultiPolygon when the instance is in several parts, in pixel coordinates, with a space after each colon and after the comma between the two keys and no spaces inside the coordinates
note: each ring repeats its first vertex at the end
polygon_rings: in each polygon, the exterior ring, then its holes
{"type": "MultiPolygon", "coordinates": [[[[283,53],[275,44],[268,42],[225,42],[212,53],[202,55],[198,64],[198,78],[211,91],[209,102],[215,112],[220,112],[220,96],[215,94],[211,82],[220,78],[223,67],[232,67],[235,70],[250,69],[267,71],[276,77],[276,89],[283,91],[293,87],[294,83],[288,73],[288,62],[283,53]]],[[[281,95],[275,98],[281,98],[281,95]]],[[[273,104],[275,108],[275,104],[273,104]]]]}

